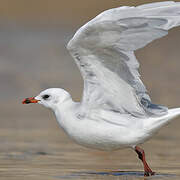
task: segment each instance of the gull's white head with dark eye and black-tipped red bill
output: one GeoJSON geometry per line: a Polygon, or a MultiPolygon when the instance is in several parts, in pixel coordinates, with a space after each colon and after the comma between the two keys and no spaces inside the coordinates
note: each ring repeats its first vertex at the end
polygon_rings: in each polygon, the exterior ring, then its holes
{"type": "Polygon", "coordinates": [[[55,109],[57,105],[70,99],[70,94],[61,88],[50,88],[42,91],[36,97],[26,98],[22,101],[23,104],[39,103],[45,107],[55,109]]]}

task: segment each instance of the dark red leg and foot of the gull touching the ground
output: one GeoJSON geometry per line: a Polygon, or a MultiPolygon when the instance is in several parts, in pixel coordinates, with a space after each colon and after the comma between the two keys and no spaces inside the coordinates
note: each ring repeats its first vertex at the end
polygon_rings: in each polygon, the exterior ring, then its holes
{"type": "Polygon", "coordinates": [[[152,176],[155,173],[151,170],[151,168],[148,166],[146,159],[145,159],[145,153],[144,150],[140,147],[136,146],[135,151],[138,154],[139,159],[142,161],[144,166],[144,176],[152,176]]]}

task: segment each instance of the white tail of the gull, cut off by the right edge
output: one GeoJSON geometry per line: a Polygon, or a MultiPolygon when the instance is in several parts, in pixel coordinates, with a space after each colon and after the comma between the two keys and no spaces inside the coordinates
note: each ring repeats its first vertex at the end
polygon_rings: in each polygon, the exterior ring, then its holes
{"type": "Polygon", "coordinates": [[[151,117],[144,122],[144,128],[146,130],[157,131],[162,126],[168,124],[172,119],[180,116],[180,108],[169,109],[166,115],[160,117],[151,117]]]}

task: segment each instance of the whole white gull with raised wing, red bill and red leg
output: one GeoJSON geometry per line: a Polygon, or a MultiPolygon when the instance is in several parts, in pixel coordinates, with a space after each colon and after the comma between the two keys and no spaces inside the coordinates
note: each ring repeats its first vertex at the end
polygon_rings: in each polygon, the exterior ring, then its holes
{"type": "Polygon", "coordinates": [[[59,125],[80,145],[107,151],[132,148],[144,175],[154,175],[138,145],[180,115],[180,108],[151,102],[134,51],[179,25],[179,2],[107,10],[82,26],[67,45],[84,79],[82,101],[51,88],[22,103],[52,109],[59,125]]]}

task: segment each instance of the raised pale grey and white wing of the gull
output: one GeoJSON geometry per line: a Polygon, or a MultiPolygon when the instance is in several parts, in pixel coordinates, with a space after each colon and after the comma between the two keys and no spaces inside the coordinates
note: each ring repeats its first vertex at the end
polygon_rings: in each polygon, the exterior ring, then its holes
{"type": "Polygon", "coordinates": [[[172,1],[107,10],[81,27],[67,48],[84,79],[82,111],[113,110],[135,116],[160,115],[138,73],[134,51],[180,24],[172,1]]]}

